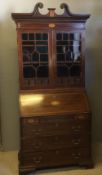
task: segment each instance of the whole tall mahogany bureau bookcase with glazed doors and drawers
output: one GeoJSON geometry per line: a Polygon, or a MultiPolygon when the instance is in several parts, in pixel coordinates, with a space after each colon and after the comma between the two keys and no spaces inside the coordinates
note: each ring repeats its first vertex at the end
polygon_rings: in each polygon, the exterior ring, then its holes
{"type": "Polygon", "coordinates": [[[85,91],[89,15],[54,8],[12,13],[19,59],[19,174],[62,166],[92,167],[91,110],[85,91]]]}

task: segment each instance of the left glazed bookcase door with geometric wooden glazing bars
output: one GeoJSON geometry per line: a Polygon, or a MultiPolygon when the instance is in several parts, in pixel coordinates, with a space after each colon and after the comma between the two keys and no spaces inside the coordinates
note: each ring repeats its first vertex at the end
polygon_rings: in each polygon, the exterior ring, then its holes
{"type": "Polygon", "coordinates": [[[21,89],[38,89],[51,86],[51,34],[30,31],[20,34],[21,89]]]}

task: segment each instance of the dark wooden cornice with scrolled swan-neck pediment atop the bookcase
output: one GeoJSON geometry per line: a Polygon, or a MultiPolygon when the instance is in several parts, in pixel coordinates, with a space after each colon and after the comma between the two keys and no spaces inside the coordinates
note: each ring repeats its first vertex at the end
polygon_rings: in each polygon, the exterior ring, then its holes
{"type": "Polygon", "coordinates": [[[61,9],[64,9],[64,12],[61,15],[55,13],[55,8],[48,8],[49,12],[46,15],[40,13],[39,9],[43,8],[43,4],[41,2],[37,3],[34,7],[32,13],[12,13],[12,18],[15,22],[21,21],[32,21],[36,22],[36,20],[55,20],[59,22],[63,21],[73,21],[73,22],[86,22],[86,20],[90,17],[89,14],[73,14],[70,12],[69,7],[67,4],[62,3],[60,5],[61,9]]]}

